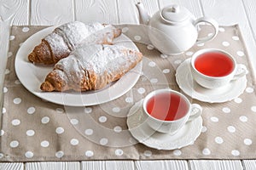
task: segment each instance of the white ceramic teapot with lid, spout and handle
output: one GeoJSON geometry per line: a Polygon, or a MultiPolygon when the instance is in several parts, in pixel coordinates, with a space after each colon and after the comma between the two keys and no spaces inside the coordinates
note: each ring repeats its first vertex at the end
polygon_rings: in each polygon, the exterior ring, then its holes
{"type": "Polygon", "coordinates": [[[146,12],[143,3],[137,3],[140,18],[148,25],[148,37],[155,48],[163,54],[182,54],[195,43],[212,40],[218,34],[217,21],[195,16],[187,8],[173,4],[156,12],[152,18],[146,12]],[[213,27],[213,33],[207,37],[198,37],[197,25],[208,23],[213,27]]]}

